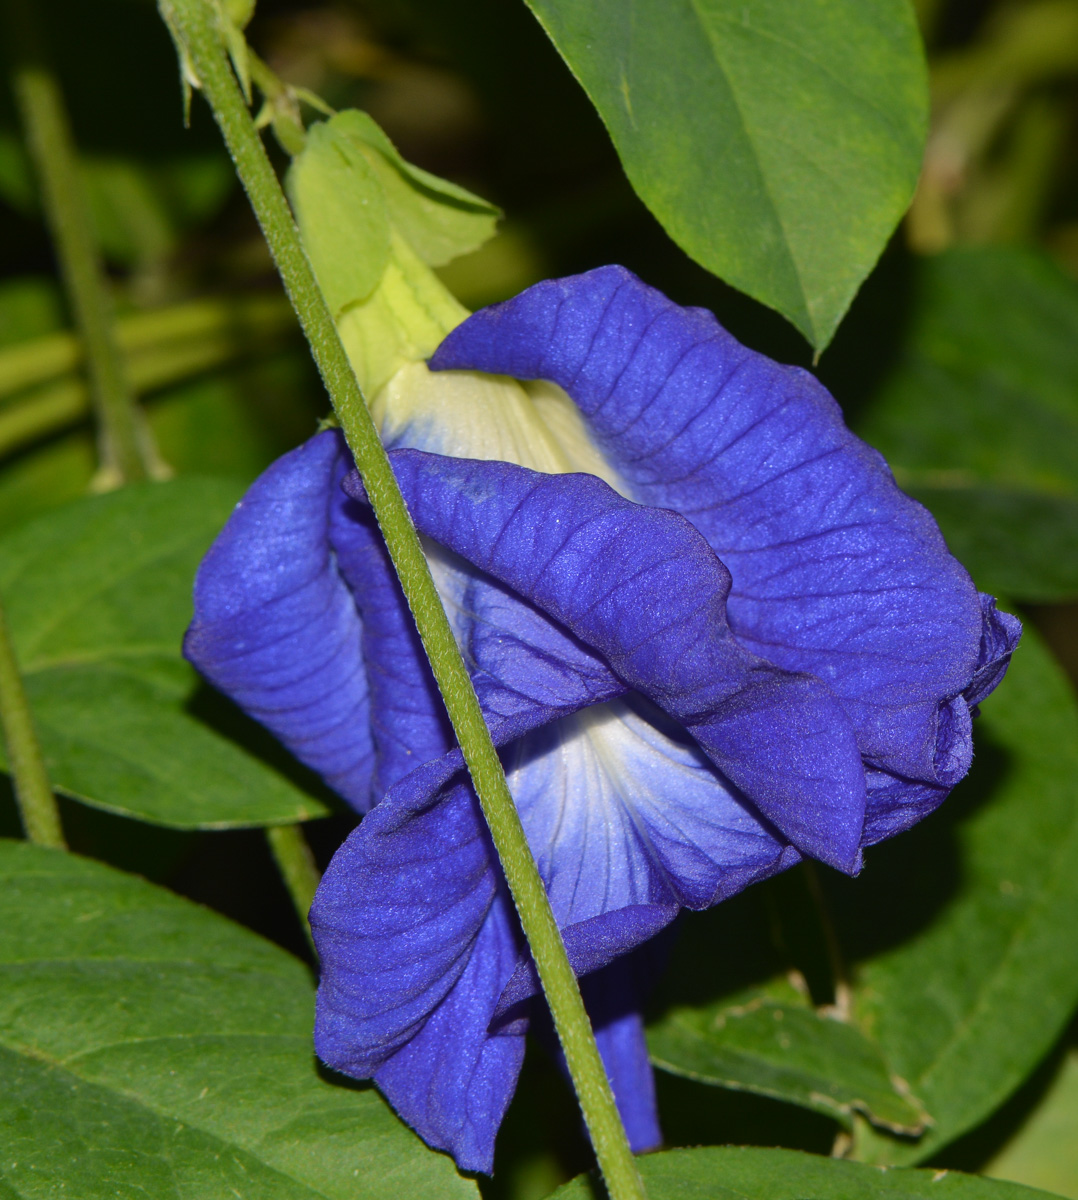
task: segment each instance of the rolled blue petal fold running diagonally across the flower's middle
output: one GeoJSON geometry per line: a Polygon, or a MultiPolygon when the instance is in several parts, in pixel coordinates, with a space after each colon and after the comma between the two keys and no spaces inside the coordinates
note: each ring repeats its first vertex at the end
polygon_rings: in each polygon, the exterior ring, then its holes
{"type": "Polygon", "coordinates": [[[681,721],[798,848],[854,871],[864,772],[819,680],[731,636],[729,575],[675,514],[588,475],[395,451],[417,526],[513,588],[681,721]]]}

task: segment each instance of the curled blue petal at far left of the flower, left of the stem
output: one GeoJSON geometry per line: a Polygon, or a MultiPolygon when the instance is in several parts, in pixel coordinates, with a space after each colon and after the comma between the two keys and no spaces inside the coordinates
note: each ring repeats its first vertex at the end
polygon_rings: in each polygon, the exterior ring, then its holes
{"type": "Polygon", "coordinates": [[[369,803],[373,748],[361,629],[330,523],[352,466],[325,432],[252,485],[194,582],[184,653],[353,806],[369,803]]]}

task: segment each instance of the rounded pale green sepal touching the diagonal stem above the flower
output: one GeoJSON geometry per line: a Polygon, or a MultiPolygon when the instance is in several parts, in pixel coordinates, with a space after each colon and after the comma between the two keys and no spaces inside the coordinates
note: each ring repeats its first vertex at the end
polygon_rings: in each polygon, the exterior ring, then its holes
{"type": "Polygon", "coordinates": [[[366,300],[389,263],[389,214],[378,178],[334,121],[307,131],[288,172],[304,248],[335,318],[366,300]]]}

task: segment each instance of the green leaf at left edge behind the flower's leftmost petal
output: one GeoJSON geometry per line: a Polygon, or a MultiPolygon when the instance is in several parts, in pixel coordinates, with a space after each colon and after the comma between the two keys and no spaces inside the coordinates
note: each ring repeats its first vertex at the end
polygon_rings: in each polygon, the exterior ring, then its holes
{"type": "Polygon", "coordinates": [[[200,719],[223,708],[244,725],[180,656],[194,569],[241,491],[209,479],[128,487],[0,539],[0,595],[62,792],[184,829],[328,811],[200,719]]]}

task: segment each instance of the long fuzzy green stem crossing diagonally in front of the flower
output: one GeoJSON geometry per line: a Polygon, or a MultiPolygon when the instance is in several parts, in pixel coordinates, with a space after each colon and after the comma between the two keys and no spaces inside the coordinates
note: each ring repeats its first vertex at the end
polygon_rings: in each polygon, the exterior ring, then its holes
{"type": "Polygon", "coordinates": [[[304,253],[299,230],[244,102],[208,0],[158,0],[235,162],[329,391],[382,529],[528,940],[611,1200],[643,1200],[629,1141],[599,1057],[550,900],[419,536],[385,449],[304,253]]]}

